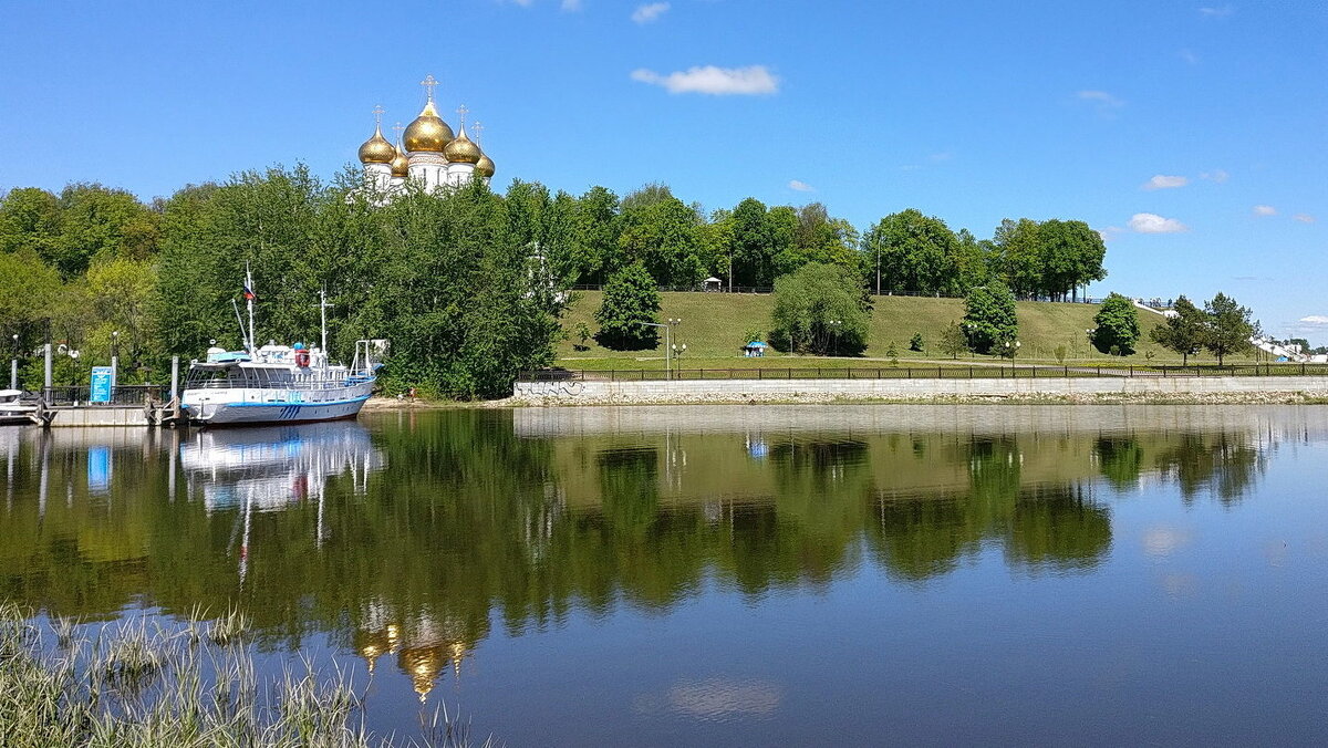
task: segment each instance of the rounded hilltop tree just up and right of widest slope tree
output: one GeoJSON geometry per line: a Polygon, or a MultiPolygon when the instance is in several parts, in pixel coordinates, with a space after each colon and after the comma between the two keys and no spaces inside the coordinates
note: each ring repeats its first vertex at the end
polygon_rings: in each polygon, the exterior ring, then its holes
{"type": "Polygon", "coordinates": [[[959,239],[946,222],[908,209],[882,218],[863,235],[880,256],[882,291],[952,294],[959,288],[959,239]]]}

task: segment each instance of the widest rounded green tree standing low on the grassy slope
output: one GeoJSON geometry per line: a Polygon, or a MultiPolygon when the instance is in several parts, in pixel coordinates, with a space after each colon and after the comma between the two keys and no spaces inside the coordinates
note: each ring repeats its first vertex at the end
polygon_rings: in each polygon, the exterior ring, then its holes
{"type": "Polygon", "coordinates": [[[772,343],[799,353],[859,353],[867,345],[870,315],[854,271],[807,263],[774,282],[772,343]]]}

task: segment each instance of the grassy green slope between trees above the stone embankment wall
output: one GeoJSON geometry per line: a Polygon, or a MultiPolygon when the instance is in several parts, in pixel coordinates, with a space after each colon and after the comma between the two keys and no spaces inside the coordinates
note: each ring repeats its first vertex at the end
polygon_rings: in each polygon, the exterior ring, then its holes
{"type": "MultiPolygon", "coordinates": [[[[744,332],[749,329],[768,329],[770,326],[770,311],[774,308],[774,296],[770,294],[701,294],[701,292],[671,292],[661,294],[661,318],[679,318],[683,320],[676,328],[676,343],[687,343],[687,356],[684,365],[749,365],[752,361],[742,357],[741,345],[745,341],[744,332]]],[[[602,348],[594,339],[587,341],[588,351],[574,349],[575,339],[571,332],[576,324],[584,322],[591,332],[599,329],[595,324],[595,310],[600,304],[599,291],[580,291],[578,298],[563,319],[563,329],[570,335],[558,345],[560,364],[568,368],[653,368],[661,365],[663,337],[656,351],[610,351],[602,348]],[[647,361],[653,361],[647,363],[647,361]]],[[[1114,360],[1105,353],[1098,353],[1088,344],[1085,329],[1094,327],[1093,316],[1097,314],[1097,304],[1056,304],[1045,302],[1019,302],[1019,332],[1023,348],[1020,360],[1054,360],[1057,345],[1065,345],[1070,360],[1114,360]]],[[[871,328],[867,336],[867,349],[863,357],[884,359],[886,351],[894,343],[900,360],[908,359],[942,359],[935,349],[946,326],[959,322],[964,316],[963,299],[919,299],[910,296],[875,296],[874,311],[871,314],[871,328]],[[926,349],[922,353],[908,351],[908,340],[915,332],[920,332],[926,349]]],[[[1177,361],[1179,356],[1158,347],[1149,339],[1149,331],[1162,323],[1161,315],[1139,311],[1139,327],[1143,332],[1138,343],[1138,351],[1133,356],[1123,359],[1125,363],[1145,363],[1145,353],[1153,351],[1154,363],[1177,361]]],[[[774,365],[798,365],[795,361],[821,361],[811,365],[827,365],[825,359],[785,356],[776,352],[772,357],[780,359],[774,365]]],[[[988,356],[977,356],[988,359],[988,356]]],[[[1191,357],[1191,361],[1194,357],[1191,357]]],[[[774,363],[774,361],[769,361],[774,363]]]]}

